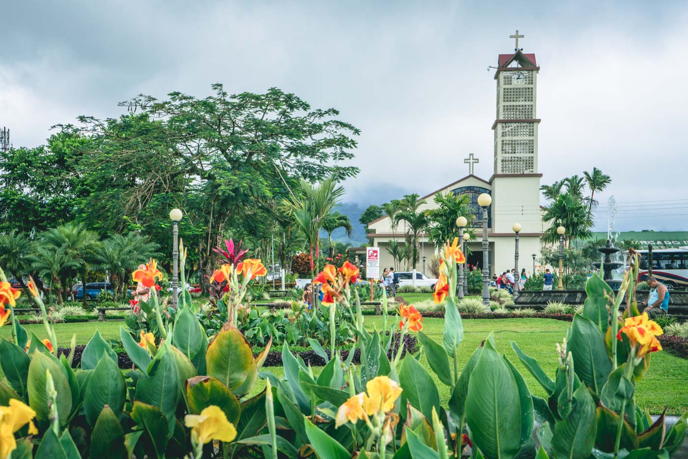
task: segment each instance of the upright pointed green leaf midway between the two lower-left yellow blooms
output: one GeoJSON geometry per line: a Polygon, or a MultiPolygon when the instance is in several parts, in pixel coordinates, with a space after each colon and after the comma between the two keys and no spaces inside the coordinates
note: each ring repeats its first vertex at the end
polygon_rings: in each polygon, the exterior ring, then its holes
{"type": "Polygon", "coordinates": [[[96,425],[96,420],[105,406],[109,406],[119,419],[125,407],[126,396],[127,385],[120,368],[103,352],[86,387],[84,396],[86,422],[91,426],[96,425]]]}

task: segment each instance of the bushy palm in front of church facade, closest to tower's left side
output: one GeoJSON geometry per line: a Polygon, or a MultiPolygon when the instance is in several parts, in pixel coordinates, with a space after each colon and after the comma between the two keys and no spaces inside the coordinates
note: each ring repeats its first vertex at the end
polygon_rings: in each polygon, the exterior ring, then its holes
{"type": "Polygon", "coordinates": [[[468,195],[454,195],[451,192],[446,195],[437,193],[433,200],[438,207],[425,211],[428,217],[429,240],[435,246],[441,246],[454,237],[458,237],[459,228],[456,226],[458,217],[463,216],[469,222],[473,222],[475,215],[469,204],[468,195]]]}

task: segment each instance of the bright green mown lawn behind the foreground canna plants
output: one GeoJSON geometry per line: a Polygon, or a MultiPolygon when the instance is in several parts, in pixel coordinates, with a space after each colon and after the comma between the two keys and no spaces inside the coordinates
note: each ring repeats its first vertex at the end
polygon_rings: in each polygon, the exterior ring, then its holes
{"type": "MultiPolygon", "coordinates": [[[[409,294],[407,294],[409,295],[409,294]]],[[[412,295],[412,294],[411,294],[412,295]]],[[[424,319],[423,331],[438,343],[442,342],[443,319],[424,319]]],[[[119,339],[119,328],[121,321],[107,322],[87,322],[87,323],[63,323],[56,325],[56,332],[60,345],[69,345],[72,334],[76,334],[76,343],[85,344],[89,341],[96,330],[104,339],[119,339]]],[[[369,330],[382,328],[381,317],[365,317],[365,325],[369,330]]],[[[463,367],[469,356],[486,339],[489,332],[495,332],[497,350],[504,352],[506,356],[522,372],[528,387],[533,394],[544,396],[544,390],[530,376],[525,368],[518,361],[515,353],[511,349],[510,341],[518,343],[519,347],[526,354],[539,361],[544,370],[554,376],[557,365],[557,352],[555,343],[561,342],[566,336],[566,329],[569,322],[557,321],[553,319],[469,319],[464,321],[464,341],[461,344],[459,354],[460,367],[463,367]]],[[[36,336],[43,339],[45,330],[42,324],[25,325],[27,330],[36,333],[36,336]]],[[[5,326],[0,329],[0,337],[8,338],[11,328],[5,326]]],[[[275,343],[276,348],[281,348],[281,343],[275,343]]],[[[425,357],[422,363],[427,366],[425,357]]],[[[277,376],[283,375],[281,367],[266,367],[277,376]]],[[[319,368],[314,368],[319,372],[319,368]]],[[[434,377],[434,374],[431,372],[434,377]]],[[[660,414],[665,407],[669,407],[667,414],[682,414],[688,410],[688,385],[685,384],[685,375],[688,374],[688,360],[680,359],[668,352],[658,352],[652,356],[652,364],[649,372],[641,381],[638,381],[636,390],[637,402],[641,407],[649,408],[653,414],[660,414]]],[[[449,400],[449,387],[440,383],[435,378],[442,404],[446,406],[449,400]]],[[[264,387],[264,381],[259,380],[253,392],[257,392],[264,387]]]]}

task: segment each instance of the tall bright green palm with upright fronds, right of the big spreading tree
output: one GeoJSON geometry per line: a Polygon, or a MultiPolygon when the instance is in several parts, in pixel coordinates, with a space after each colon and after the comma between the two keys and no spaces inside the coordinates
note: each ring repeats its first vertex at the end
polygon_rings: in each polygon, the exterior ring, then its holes
{"type": "Polygon", "coordinates": [[[292,194],[291,198],[284,202],[291,209],[294,221],[308,240],[312,275],[316,268],[313,263],[313,248],[315,248],[316,259],[320,256],[318,234],[327,219],[327,214],[338,204],[343,195],[344,188],[337,186],[333,177],[326,178],[315,185],[301,179],[297,194],[292,194]]]}

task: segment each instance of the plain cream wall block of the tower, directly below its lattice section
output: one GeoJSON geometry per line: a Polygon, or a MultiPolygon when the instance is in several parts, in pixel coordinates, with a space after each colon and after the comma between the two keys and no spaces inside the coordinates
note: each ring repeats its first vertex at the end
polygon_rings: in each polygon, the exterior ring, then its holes
{"type": "Polygon", "coordinates": [[[516,222],[523,233],[541,233],[539,177],[499,177],[492,185],[493,233],[513,233],[516,222]]]}

